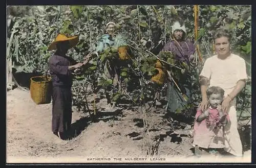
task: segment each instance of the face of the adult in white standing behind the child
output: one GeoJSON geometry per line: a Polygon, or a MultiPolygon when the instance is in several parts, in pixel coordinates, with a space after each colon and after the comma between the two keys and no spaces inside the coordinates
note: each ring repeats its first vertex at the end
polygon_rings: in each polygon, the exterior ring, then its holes
{"type": "Polygon", "coordinates": [[[230,54],[230,42],[227,37],[222,36],[215,39],[215,51],[220,57],[225,57],[230,54]]]}

